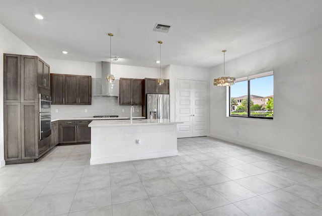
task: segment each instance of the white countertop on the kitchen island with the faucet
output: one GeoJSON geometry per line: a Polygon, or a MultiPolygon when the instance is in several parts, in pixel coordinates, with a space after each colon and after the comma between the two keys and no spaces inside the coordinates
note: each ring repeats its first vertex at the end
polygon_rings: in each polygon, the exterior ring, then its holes
{"type": "Polygon", "coordinates": [[[111,127],[111,126],[138,126],[138,125],[161,125],[161,124],[181,124],[183,122],[174,122],[169,119],[134,119],[133,123],[126,120],[93,120],[89,127],[111,127]]]}

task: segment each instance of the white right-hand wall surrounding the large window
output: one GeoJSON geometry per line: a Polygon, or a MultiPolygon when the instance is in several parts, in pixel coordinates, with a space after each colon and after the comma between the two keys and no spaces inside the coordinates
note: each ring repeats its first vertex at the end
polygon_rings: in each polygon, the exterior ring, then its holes
{"type": "Polygon", "coordinates": [[[321,35],[317,29],[226,62],[226,75],[236,78],[274,67],[274,120],[226,117],[226,88],[212,86],[222,65],[212,68],[210,136],[322,166],[321,35]]]}

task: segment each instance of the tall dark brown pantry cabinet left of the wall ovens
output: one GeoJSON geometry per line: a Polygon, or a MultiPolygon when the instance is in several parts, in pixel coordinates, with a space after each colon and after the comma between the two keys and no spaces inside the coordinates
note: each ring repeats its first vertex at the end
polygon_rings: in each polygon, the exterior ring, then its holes
{"type": "MultiPolygon", "coordinates": [[[[33,162],[49,150],[39,148],[38,139],[37,70],[40,61],[42,60],[37,56],[4,54],[6,164],[33,162]]],[[[45,82],[41,83],[45,84],[45,82]]]]}

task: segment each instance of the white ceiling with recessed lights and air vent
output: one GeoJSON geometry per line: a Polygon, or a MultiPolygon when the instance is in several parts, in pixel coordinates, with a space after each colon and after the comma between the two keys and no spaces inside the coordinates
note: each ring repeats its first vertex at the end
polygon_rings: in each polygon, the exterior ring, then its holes
{"type": "Polygon", "coordinates": [[[0,23],[43,58],[211,68],[322,26],[321,0],[0,0],[0,23]],[[34,15],[41,14],[44,20],[34,15]],[[155,23],[169,33],[152,31],[155,23]],[[63,54],[62,51],[68,51],[63,54]]]}

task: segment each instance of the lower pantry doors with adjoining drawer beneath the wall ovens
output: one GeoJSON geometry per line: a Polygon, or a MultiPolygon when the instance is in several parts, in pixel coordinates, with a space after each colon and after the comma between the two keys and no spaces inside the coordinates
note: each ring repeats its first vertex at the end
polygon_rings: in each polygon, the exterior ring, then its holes
{"type": "Polygon", "coordinates": [[[39,140],[38,103],[4,103],[6,164],[31,163],[50,150],[51,136],[39,140]]]}

